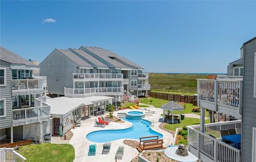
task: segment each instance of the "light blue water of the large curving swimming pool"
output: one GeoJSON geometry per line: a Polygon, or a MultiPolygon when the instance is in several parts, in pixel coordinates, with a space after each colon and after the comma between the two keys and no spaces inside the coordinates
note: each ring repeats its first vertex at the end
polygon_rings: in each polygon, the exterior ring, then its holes
{"type": "MultiPolygon", "coordinates": [[[[87,140],[92,142],[110,142],[119,139],[135,139],[139,137],[158,135],[159,139],[163,137],[161,133],[153,131],[150,128],[151,122],[145,119],[123,119],[132,123],[132,127],[126,129],[102,130],[91,132],[86,135],[87,140]]],[[[111,124],[111,123],[110,123],[111,124]]]]}

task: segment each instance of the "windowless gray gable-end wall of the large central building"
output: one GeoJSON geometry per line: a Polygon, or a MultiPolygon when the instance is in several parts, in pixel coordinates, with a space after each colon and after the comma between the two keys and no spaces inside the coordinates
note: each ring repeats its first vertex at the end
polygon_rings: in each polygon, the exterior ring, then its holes
{"type": "Polygon", "coordinates": [[[73,73],[77,72],[78,65],[54,50],[39,65],[41,76],[47,76],[48,92],[64,95],[64,87],[73,88],[73,73]]]}

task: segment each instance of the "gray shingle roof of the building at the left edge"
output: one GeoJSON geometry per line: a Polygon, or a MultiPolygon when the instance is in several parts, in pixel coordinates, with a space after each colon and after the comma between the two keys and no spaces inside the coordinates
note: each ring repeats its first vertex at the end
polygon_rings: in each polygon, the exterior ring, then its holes
{"type": "Polygon", "coordinates": [[[2,46],[0,46],[0,59],[12,64],[25,64],[27,66],[38,67],[35,63],[22,58],[18,54],[13,53],[2,46]]]}

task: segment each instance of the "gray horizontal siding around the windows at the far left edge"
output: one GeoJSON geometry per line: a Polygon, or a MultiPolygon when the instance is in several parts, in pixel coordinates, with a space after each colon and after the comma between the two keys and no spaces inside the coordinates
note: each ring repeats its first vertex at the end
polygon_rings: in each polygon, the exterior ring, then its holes
{"type": "Polygon", "coordinates": [[[11,103],[11,72],[10,63],[0,60],[1,68],[6,69],[6,86],[0,86],[0,98],[6,102],[6,117],[0,118],[0,128],[11,127],[12,125],[12,103],[11,103]]]}

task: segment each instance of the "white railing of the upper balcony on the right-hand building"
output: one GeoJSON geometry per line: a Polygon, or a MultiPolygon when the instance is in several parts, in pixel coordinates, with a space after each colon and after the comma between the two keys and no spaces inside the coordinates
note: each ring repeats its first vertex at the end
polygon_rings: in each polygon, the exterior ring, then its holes
{"type": "Polygon", "coordinates": [[[218,102],[228,106],[239,107],[242,102],[241,79],[197,79],[197,96],[199,100],[218,102]]]}

